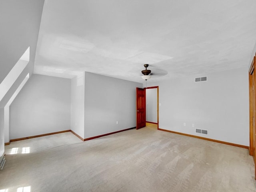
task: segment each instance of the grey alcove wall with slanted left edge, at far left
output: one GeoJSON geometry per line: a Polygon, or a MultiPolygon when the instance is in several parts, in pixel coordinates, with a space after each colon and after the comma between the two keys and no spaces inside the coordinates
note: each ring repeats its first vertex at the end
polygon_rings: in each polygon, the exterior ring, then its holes
{"type": "Polygon", "coordinates": [[[34,74],[10,105],[10,139],[70,130],[70,79],[34,74]]]}

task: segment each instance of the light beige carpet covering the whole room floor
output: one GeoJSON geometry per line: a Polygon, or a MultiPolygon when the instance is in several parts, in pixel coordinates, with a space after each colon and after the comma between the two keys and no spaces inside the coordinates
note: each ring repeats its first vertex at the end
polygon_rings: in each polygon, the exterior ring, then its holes
{"type": "Polygon", "coordinates": [[[0,191],[256,191],[248,150],[151,126],[86,142],[70,132],[12,142],[6,159],[0,191]]]}

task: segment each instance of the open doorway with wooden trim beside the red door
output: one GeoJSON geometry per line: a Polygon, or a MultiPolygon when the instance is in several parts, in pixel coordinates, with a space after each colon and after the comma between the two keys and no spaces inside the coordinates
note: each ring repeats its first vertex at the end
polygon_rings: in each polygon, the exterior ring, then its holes
{"type": "Polygon", "coordinates": [[[146,89],[146,126],[158,129],[158,86],[146,89]]]}

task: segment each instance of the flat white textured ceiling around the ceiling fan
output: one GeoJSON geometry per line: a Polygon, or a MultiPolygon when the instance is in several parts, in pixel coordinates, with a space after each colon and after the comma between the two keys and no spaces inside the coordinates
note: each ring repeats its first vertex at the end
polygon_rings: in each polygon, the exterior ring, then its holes
{"type": "Polygon", "coordinates": [[[248,66],[256,0],[45,0],[34,73],[143,82],[248,66]]]}

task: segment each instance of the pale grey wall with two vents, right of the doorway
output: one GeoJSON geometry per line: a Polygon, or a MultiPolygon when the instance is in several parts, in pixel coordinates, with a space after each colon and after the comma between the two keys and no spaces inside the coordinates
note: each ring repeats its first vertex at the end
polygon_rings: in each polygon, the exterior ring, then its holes
{"type": "Polygon", "coordinates": [[[249,146],[248,68],[206,76],[207,82],[191,76],[148,85],[159,86],[159,128],[249,146]]]}

